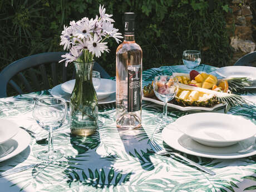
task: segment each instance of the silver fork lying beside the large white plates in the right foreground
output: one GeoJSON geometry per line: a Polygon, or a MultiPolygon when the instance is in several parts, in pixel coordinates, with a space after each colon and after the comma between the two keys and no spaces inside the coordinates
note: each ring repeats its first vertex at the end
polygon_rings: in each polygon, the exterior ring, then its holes
{"type": "Polygon", "coordinates": [[[196,168],[203,170],[205,173],[208,173],[210,175],[215,175],[216,173],[214,173],[214,171],[211,171],[207,168],[205,168],[204,166],[201,166],[197,163],[195,163],[194,161],[191,161],[189,159],[187,159],[186,157],[178,154],[178,152],[168,152],[165,149],[163,149],[160,145],[158,145],[154,140],[150,140],[149,141],[149,145],[152,148],[152,150],[157,154],[157,155],[171,155],[171,156],[178,156],[181,159],[185,160],[186,162],[190,163],[190,165],[194,165],[196,168]]]}

